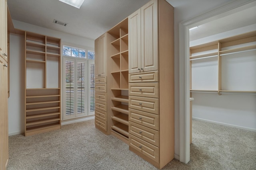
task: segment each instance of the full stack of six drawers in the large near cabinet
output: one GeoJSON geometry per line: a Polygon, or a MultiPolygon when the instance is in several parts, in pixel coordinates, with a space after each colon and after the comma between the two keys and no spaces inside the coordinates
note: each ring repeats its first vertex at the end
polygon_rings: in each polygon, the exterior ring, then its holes
{"type": "Polygon", "coordinates": [[[129,74],[129,146],[159,162],[158,71],[129,74]]]}

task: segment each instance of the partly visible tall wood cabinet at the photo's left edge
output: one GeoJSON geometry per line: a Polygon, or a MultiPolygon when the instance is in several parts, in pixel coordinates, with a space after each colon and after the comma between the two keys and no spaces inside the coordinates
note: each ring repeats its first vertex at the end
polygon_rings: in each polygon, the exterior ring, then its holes
{"type": "Polygon", "coordinates": [[[0,0],[0,169],[8,164],[7,1],[0,0]]]}

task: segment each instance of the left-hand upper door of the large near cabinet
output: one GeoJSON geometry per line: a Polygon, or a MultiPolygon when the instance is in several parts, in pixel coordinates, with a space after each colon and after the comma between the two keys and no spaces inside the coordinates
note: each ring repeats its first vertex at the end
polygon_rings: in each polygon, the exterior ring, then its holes
{"type": "Polygon", "coordinates": [[[141,70],[141,46],[140,46],[140,9],[128,18],[129,37],[129,73],[141,70]]]}

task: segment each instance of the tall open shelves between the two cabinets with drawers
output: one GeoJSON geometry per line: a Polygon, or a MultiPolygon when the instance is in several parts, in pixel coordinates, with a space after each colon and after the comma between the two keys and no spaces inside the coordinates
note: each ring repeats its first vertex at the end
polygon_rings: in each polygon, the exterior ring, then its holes
{"type": "Polygon", "coordinates": [[[128,143],[128,18],[108,31],[108,129],[128,143]]]}

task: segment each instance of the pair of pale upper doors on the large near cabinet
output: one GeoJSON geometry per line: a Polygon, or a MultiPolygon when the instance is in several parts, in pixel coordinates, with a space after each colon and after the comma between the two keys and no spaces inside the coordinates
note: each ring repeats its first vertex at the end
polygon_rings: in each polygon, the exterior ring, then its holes
{"type": "Polygon", "coordinates": [[[129,18],[129,72],[158,70],[158,4],[150,1],[129,18]]]}

